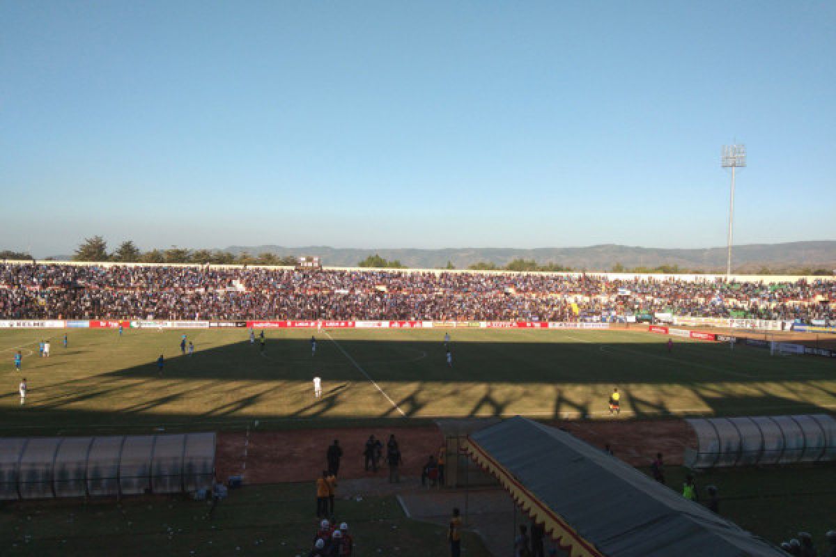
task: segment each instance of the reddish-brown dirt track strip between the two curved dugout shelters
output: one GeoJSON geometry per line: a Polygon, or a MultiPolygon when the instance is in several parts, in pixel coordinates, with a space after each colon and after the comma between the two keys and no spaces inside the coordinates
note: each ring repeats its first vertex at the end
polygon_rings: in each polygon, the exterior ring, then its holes
{"type": "MultiPolygon", "coordinates": [[[[666,463],[681,464],[683,448],[696,447],[691,428],[679,419],[561,421],[549,425],[595,447],[603,448],[609,443],[616,457],[634,466],[650,465],[656,453],[664,453],[666,463]]],[[[242,474],[247,484],[314,480],[326,468],[325,451],[329,444],[339,439],[344,451],[340,478],[385,478],[385,468],[376,474],[364,470],[363,448],[371,434],[385,445],[390,433],[395,433],[400,444],[403,476],[421,475],[427,456],[437,454],[443,442],[441,431],[435,426],[250,432],[248,443],[246,433],[218,433],[217,474],[221,479],[242,474]]]]}

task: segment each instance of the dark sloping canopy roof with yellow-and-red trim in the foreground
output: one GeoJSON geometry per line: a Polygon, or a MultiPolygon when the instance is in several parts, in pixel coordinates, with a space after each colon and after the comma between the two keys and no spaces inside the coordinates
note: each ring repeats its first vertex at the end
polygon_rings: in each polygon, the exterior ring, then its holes
{"type": "Polygon", "coordinates": [[[569,433],[511,418],[467,451],[572,557],[785,556],[569,433]]]}

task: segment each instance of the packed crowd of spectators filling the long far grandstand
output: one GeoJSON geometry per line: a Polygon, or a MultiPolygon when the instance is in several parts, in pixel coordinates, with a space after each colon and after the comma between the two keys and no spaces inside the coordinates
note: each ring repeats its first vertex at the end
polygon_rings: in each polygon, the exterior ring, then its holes
{"type": "Polygon", "coordinates": [[[836,321],[836,281],[682,281],[513,272],[0,265],[0,318],[836,321]]]}

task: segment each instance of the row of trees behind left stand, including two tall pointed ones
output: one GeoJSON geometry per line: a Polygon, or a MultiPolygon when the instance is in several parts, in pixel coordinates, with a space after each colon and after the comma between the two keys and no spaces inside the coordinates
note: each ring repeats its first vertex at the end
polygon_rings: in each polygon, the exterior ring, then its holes
{"type": "Polygon", "coordinates": [[[75,250],[73,261],[115,261],[120,263],[197,263],[212,265],[286,265],[295,266],[295,256],[260,253],[252,256],[242,251],[237,256],[228,251],[189,250],[171,246],[167,250],[141,251],[133,241],[123,241],[115,251],[108,251],[107,241],[101,236],[85,238],[75,250]]]}

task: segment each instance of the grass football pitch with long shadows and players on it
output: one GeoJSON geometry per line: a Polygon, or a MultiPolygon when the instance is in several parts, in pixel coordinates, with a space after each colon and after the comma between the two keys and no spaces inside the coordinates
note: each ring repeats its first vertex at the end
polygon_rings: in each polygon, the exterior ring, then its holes
{"type": "Polygon", "coordinates": [[[434,330],[4,330],[0,433],[132,433],[405,418],[620,418],[809,413],[836,409],[836,361],[675,341],[640,331],[451,330],[452,367],[434,330]],[[194,356],[180,353],[181,334],[194,356]],[[38,357],[50,337],[52,355],[38,357]],[[23,352],[23,372],[13,353],[23,352]],[[155,360],[166,357],[162,377],[155,360]],[[324,396],[314,398],[314,376],[324,396]],[[21,406],[18,382],[28,379],[21,406]]]}

